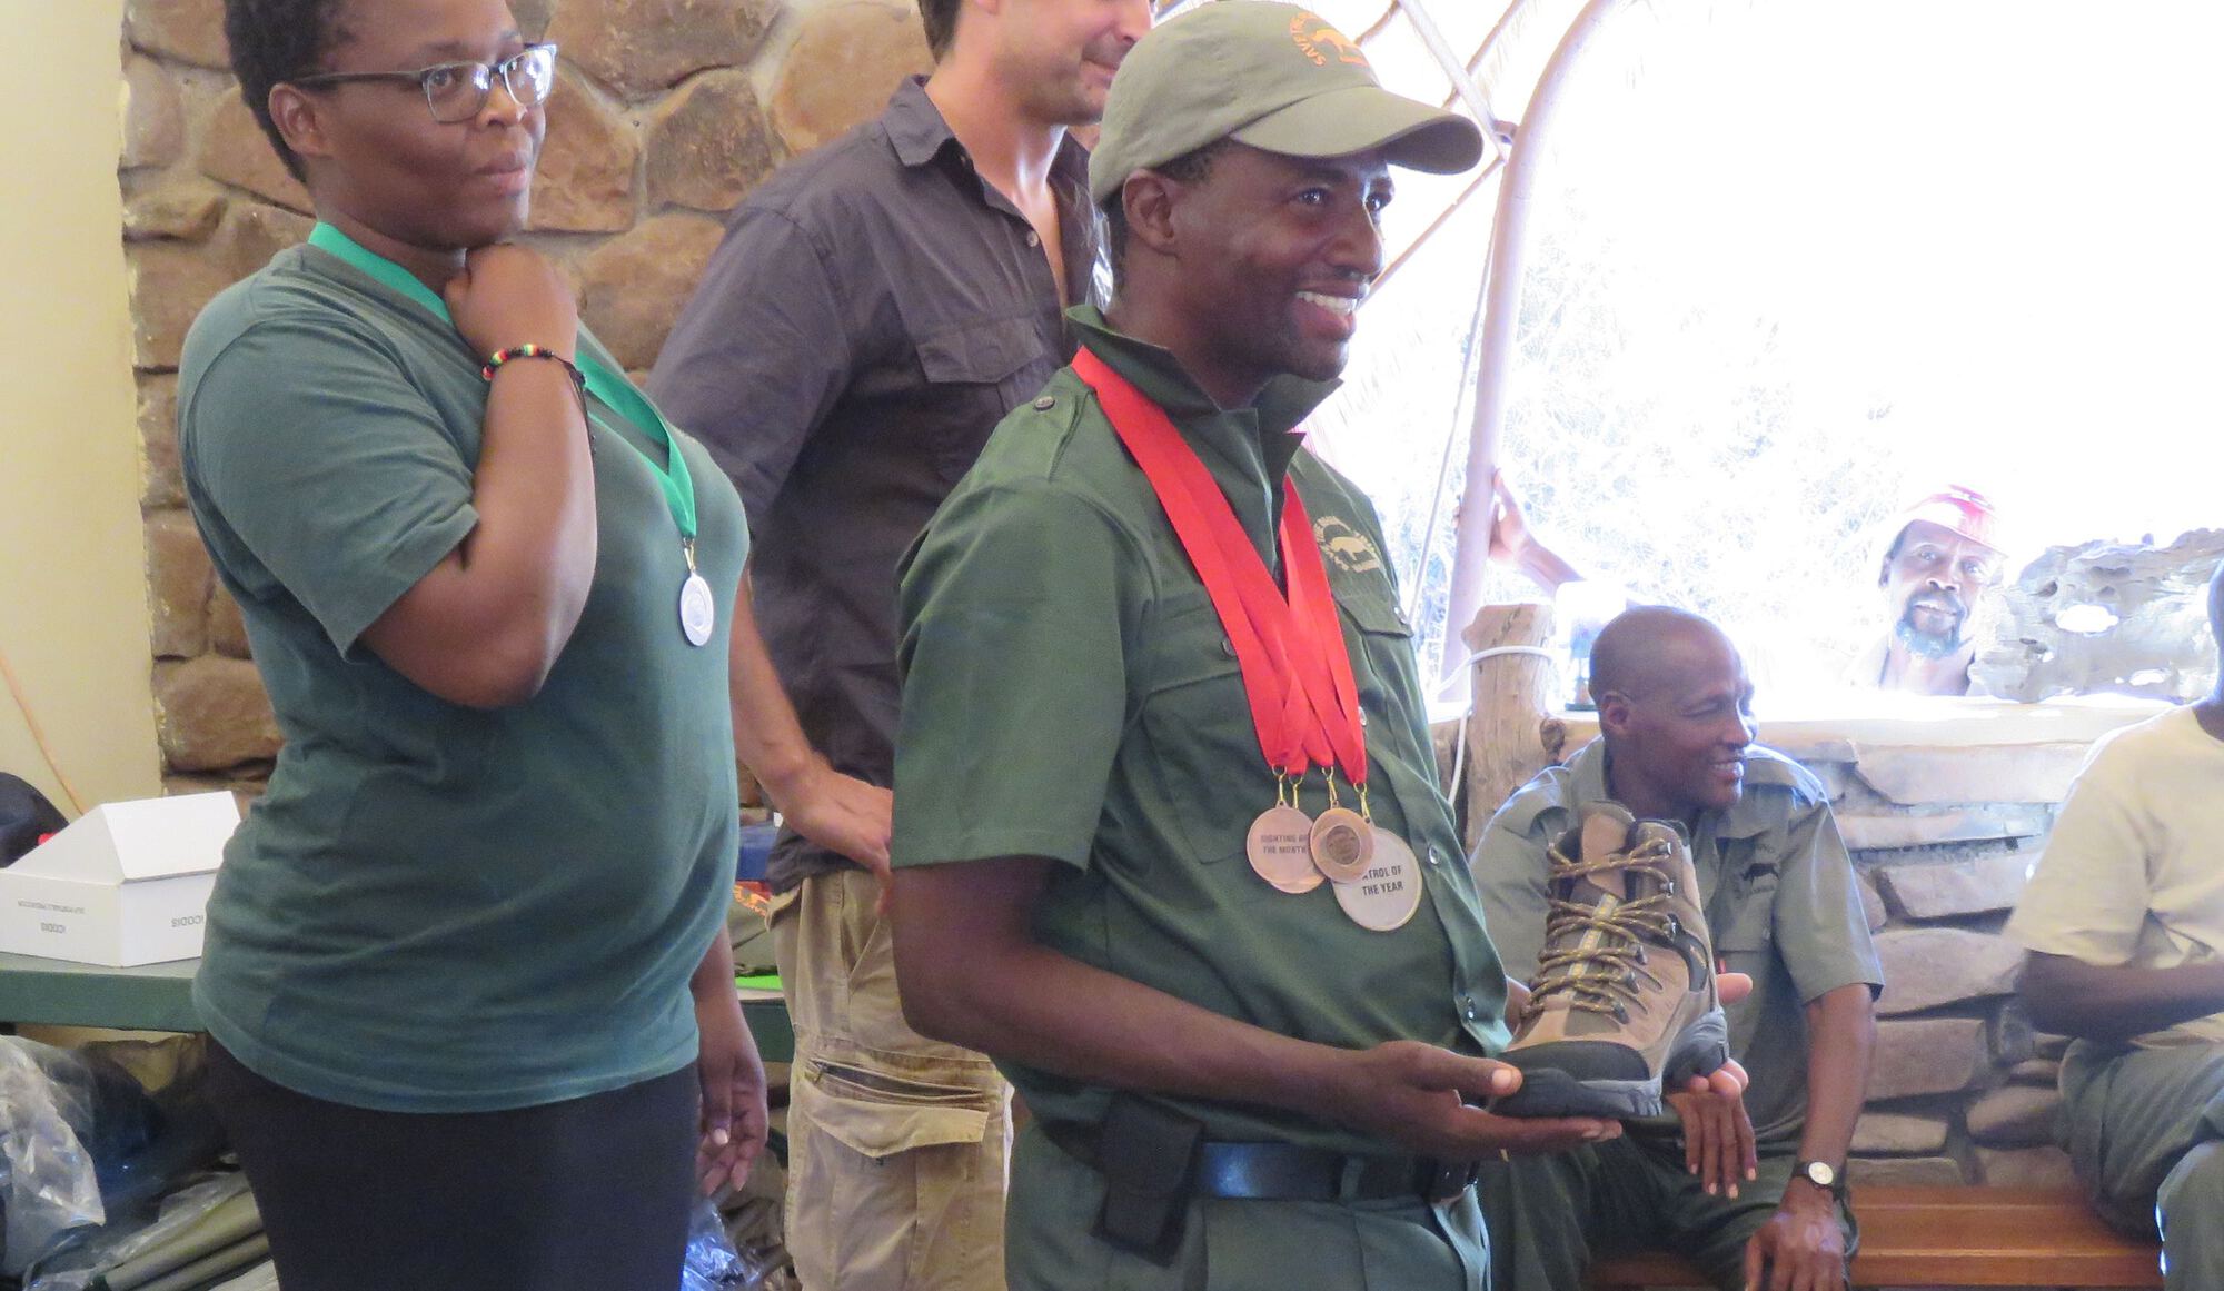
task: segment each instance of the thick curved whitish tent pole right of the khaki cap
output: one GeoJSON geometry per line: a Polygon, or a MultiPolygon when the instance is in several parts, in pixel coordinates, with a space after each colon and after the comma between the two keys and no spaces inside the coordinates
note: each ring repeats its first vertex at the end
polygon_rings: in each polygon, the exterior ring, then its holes
{"type": "MultiPolygon", "coordinates": [[[[1408,16],[1414,9],[1412,0],[1399,0],[1399,4],[1406,7],[1408,16]]],[[[1459,523],[1452,530],[1452,585],[1437,672],[1452,694],[1463,694],[1468,648],[1459,634],[1481,608],[1483,568],[1490,563],[1490,519],[1497,510],[1490,503],[1490,476],[1497,470],[1499,427],[1506,423],[1506,361],[1512,356],[1515,327],[1521,321],[1521,256],[1528,249],[1530,189],[1537,183],[1541,145],[1583,47],[1608,18],[1628,4],[1630,0],[1588,0],[1568,24],[1568,33],[1561,36],[1552,60],[1543,67],[1543,76],[1537,78],[1528,111],[1521,114],[1521,134],[1506,160],[1506,174],[1499,178],[1499,209],[1490,223],[1483,354],[1475,367],[1475,430],[1468,438],[1468,476],[1459,523]],[[1452,686],[1454,674],[1459,688],[1452,686]]]]}

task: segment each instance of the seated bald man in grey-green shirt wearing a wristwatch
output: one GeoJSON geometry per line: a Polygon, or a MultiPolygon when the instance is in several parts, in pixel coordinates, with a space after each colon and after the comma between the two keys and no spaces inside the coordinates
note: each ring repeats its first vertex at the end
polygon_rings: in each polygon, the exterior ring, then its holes
{"type": "Polygon", "coordinates": [[[1599,739],[1490,819],[1475,853],[1490,942],[1530,979],[1546,939],[1548,848],[1586,804],[1672,821],[1692,850],[1715,953],[1753,975],[1724,1004],[1744,1108],[1670,1093],[1675,1115],[1555,1157],[1486,1162],[1499,1291],[1581,1291],[1592,1253],[1668,1246],[1717,1287],[1839,1287],[1853,1255],[1846,1151],[1868,1084],[1884,975],[1830,817],[1799,763],[1753,741],[1753,683],[1719,628],[1668,608],[1617,617],[1592,648],[1599,739]],[[1750,1120],[1748,1120],[1750,1113],[1750,1120]]]}

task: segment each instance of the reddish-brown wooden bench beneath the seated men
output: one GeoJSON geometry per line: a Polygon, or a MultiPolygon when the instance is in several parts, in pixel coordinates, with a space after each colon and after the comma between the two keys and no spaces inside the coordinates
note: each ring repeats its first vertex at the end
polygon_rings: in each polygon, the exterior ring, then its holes
{"type": "MultiPolygon", "coordinates": [[[[2155,1242],[2099,1222],[2064,1189],[1853,1189],[1855,1287],[2162,1287],[2155,1242]]],[[[1679,1255],[1599,1260],[1592,1291],[1706,1287],[1679,1255]]]]}

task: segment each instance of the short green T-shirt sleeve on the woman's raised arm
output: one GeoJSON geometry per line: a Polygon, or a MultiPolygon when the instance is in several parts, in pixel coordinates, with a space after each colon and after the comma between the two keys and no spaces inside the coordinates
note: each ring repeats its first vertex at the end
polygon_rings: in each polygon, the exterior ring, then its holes
{"type": "MultiPolygon", "coordinates": [[[[347,652],[478,523],[471,463],[376,332],[278,318],[198,374],[180,416],[211,554],[347,652]]],[[[476,459],[478,427],[469,427],[476,459]]]]}

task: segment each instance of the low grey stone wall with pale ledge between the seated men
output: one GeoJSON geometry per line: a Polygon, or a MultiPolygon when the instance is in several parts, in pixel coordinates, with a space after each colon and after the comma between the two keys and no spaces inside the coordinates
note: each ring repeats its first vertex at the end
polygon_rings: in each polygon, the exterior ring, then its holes
{"type": "MultiPolygon", "coordinates": [[[[1942,701],[1942,719],[1764,723],[1830,790],[1884,962],[1855,1182],[2071,1184],[2053,1146],[2066,1046],[2013,999],[1999,935],[2095,739],[2137,706],[1942,701]]],[[[1559,755],[1597,735],[1566,721],[1559,755]]],[[[1472,804],[1470,804],[1472,806],[1472,804]]]]}

